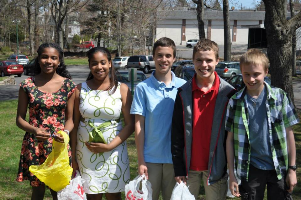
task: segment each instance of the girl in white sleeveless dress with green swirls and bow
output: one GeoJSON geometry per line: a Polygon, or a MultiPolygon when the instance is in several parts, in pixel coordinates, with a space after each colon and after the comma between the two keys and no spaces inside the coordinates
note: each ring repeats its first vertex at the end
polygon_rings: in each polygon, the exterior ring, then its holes
{"type": "Polygon", "coordinates": [[[107,49],[95,47],[87,55],[91,71],[75,92],[72,167],[86,180],[87,199],[102,199],[105,193],[108,200],[121,200],[129,182],[125,140],[134,132],[132,96],[127,85],[117,81],[107,49]]]}

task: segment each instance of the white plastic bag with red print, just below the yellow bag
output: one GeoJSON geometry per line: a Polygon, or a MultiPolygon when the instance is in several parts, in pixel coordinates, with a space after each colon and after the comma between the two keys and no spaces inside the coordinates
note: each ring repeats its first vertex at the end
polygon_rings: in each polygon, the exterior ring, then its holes
{"type": "Polygon", "coordinates": [[[70,181],[64,189],[57,192],[58,200],[87,200],[86,193],[84,191],[83,183],[85,182],[80,176],[79,172],[76,171],[76,176],[70,181]]]}

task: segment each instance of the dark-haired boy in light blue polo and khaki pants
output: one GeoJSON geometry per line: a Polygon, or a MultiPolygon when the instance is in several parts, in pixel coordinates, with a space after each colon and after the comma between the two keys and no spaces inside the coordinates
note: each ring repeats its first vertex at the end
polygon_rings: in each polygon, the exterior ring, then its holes
{"type": "Polygon", "coordinates": [[[158,39],[153,48],[156,71],[135,89],[131,114],[135,114],[135,142],[138,173],[148,177],[153,200],[171,198],[176,184],[171,154],[172,113],[177,88],[186,81],[171,71],[176,45],[169,38],[158,39]]]}

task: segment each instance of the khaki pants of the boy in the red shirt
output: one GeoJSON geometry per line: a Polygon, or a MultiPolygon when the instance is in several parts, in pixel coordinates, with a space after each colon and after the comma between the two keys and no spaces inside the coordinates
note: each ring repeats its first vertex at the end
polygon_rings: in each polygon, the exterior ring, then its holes
{"type": "Polygon", "coordinates": [[[194,171],[189,170],[187,185],[189,186],[189,192],[194,195],[195,199],[198,199],[200,192],[200,185],[203,179],[206,200],[224,200],[226,199],[228,184],[228,177],[225,176],[218,182],[207,185],[208,170],[206,171],[194,171]]]}

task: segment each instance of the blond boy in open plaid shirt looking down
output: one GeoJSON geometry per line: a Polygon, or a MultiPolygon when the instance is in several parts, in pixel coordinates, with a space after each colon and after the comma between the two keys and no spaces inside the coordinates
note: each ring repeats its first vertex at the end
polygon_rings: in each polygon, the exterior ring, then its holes
{"type": "Polygon", "coordinates": [[[291,126],[299,119],[287,94],[264,82],[264,53],[248,50],[240,58],[240,70],[246,87],[231,97],[226,114],[229,188],[236,197],[259,200],[267,186],[268,200],[283,200],[297,183],[291,126]],[[234,156],[241,187],[234,176],[234,156]]]}

